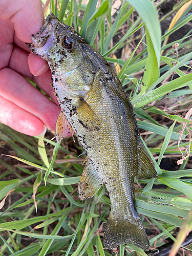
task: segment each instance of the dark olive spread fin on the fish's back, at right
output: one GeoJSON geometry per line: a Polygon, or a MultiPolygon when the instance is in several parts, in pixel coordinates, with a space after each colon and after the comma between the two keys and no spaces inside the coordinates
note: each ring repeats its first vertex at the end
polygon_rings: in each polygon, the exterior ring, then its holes
{"type": "Polygon", "coordinates": [[[144,178],[144,179],[151,179],[151,178],[158,179],[155,165],[150,155],[146,151],[146,148],[144,147],[140,137],[138,137],[137,152],[138,152],[139,168],[136,176],[138,178],[144,178]]]}

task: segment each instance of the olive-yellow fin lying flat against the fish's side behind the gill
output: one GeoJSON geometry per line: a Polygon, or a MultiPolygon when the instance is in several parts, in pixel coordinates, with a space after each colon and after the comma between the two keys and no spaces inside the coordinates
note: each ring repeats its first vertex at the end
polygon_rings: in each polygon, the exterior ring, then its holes
{"type": "Polygon", "coordinates": [[[98,131],[100,122],[88,103],[80,98],[81,104],[77,107],[79,122],[90,131],[98,131]]]}

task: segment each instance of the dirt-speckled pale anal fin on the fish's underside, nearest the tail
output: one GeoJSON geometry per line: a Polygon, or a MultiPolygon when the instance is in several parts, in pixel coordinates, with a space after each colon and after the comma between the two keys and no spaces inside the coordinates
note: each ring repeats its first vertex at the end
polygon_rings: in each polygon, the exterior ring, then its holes
{"type": "Polygon", "coordinates": [[[84,167],[79,181],[79,199],[85,200],[93,197],[102,186],[102,183],[103,182],[98,177],[96,170],[88,163],[86,167],[84,167]]]}

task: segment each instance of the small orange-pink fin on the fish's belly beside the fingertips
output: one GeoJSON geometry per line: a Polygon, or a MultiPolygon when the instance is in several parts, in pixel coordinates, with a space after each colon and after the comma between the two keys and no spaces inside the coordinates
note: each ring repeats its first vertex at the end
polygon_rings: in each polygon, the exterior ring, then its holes
{"type": "Polygon", "coordinates": [[[57,118],[57,122],[56,122],[55,136],[56,136],[57,142],[61,141],[63,138],[65,138],[70,133],[74,137],[74,133],[71,128],[71,125],[68,122],[66,116],[61,111],[57,118]]]}

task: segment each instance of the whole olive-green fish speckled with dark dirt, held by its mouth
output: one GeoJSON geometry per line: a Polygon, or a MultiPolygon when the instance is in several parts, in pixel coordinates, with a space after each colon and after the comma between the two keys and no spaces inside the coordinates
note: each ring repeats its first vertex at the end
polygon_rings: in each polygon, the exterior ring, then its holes
{"type": "Polygon", "coordinates": [[[87,155],[79,199],[92,198],[103,184],[108,190],[111,211],[104,247],[133,242],[147,251],[150,244],[135,207],[134,177],[157,179],[158,175],[120,80],[112,66],[54,14],[31,39],[29,49],[46,60],[52,72],[61,109],[56,139],[72,133],[87,155]]]}

